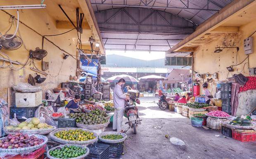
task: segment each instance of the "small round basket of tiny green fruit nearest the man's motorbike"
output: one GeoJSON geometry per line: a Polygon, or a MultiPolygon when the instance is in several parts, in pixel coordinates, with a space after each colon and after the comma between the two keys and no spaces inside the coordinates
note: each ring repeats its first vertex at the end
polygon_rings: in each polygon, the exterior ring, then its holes
{"type": "Polygon", "coordinates": [[[125,141],[126,138],[126,134],[115,131],[106,131],[99,135],[100,141],[104,143],[121,143],[125,141]]]}

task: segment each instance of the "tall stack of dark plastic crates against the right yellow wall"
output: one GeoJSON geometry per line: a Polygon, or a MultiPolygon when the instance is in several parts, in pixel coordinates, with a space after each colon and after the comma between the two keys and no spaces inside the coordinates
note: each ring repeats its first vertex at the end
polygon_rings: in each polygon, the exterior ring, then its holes
{"type": "Polygon", "coordinates": [[[229,115],[232,114],[231,88],[232,88],[232,83],[221,83],[220,84],[221,101],[222,101],[221,110],[228,113],[229,115]]]}

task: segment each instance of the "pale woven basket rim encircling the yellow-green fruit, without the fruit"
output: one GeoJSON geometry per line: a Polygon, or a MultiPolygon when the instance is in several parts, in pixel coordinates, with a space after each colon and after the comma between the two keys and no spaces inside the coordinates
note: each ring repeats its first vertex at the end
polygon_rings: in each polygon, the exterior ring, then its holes
{"type": "Polygon", "coordinates": [[[61,139],[61,138],[57,138],[56,136],[54,136],[55,133],[59,132],[59,131],[62,131],[62,130],[70,130],[70,129],[82,129],[82,128],[74,128],[74,127],[70,127],[70,128],[58,128],[56,129],[55,131],[52,131],[50,133],[50,137],[52,138],[52,140],[54,141],[57,141],[59,143],[63,143],[63,144],[75,144],[75,145],[84,145],[84,144],[88,144],[88,143],[94,143],[94,142],[97,142],[98,141],[98,134],[96,134],[95,132],[91,131],[91,130],[88,130],[88,129],[83,129],[85,131],[90,131],[93,133],[94,136],[96,136],[96,138],[94,139],[91,139],[91,140],[88,140],[88,141],[69,141],[69,140],[64,140],[64,139],[61,139]]]}

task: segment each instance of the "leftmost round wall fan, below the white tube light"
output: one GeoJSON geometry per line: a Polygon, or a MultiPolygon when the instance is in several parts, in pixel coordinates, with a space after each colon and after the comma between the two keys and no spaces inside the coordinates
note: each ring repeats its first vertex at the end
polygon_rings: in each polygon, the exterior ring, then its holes
{"type": "Polygon", "coordinates": [[[5,50],[16,50],[22,46],[22,39],[17,35],[14,35],[13,37],[12,36],[12,34],[7,34],[0,38],[0,49],[4,48],[5,50]],[[6,39],[10,37],[12,38],[6,39]]]}

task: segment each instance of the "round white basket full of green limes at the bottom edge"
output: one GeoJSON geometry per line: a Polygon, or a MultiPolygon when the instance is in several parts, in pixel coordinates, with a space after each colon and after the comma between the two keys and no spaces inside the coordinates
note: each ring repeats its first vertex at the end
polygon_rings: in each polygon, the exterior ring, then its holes
{"type": "Polygon", "coordinates": [[[83,145],[59,145],[47,152],[49,159],[83,159],[90,153],[83,145]]]}

